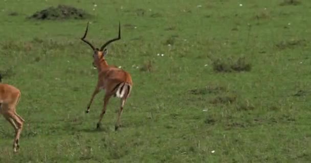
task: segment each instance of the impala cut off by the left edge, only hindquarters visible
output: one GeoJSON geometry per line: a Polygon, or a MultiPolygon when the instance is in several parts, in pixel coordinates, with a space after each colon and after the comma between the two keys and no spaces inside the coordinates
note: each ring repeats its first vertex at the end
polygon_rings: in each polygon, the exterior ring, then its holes
{"type": "MultiPolygon", "coordinates": [[[[0,74],[0,82],[2,76],[0,74]]],[[[14,86],[0,83],[0,114],[11,123],[15,129],[15,138],[13,142],[13,151],[19,148],[19,136],[23,129],[25,120],[16,113],[16,106],[20,99],[20,91],[14,86]]]]}

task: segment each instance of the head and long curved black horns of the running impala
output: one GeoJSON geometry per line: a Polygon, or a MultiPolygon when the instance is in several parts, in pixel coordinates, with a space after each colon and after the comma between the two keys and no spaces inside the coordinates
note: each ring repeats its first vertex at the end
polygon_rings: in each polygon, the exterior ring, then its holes
{"type": "Polygon", "coordinates": [[[86,34],[87,34],[87,30],[88,30],[88,23],[86,25],[86,30],[84,33],[84,36],[81,38],[81,40],[85,43],[87,43],[88,45],[90,45],[90,47],[93,49],[93,66],[94,67],[99,67],[101,62],[106,62],[105,61],[105,56],[107,55],[108,50],[105,48],[108,44],[120,40],[121,39],[121,30],[120,30],[120,22],[119,22],[119,36],[117,38],[108,40],[107,42],[105,42],[100,49],[99,48],[95,48],[90,42],[85,40],[86,34]]]}

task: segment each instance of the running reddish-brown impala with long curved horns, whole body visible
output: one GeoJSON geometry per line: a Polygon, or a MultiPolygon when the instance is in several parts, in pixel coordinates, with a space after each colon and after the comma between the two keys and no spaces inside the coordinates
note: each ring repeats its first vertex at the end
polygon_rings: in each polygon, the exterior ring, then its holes
{"type": "Polygon", "coordinates": [[[95,90],[92,94],[91,100],[87,105],[86,113],[90,112],[91,103],[93,102],[95,95],[97,95],[100,90],[105,90],[104,104],[103,104],[103,108],[102,108],[102,111],[101,111],[101,114],[99,116],[99,120],[97,123],[97,128],[100,128],[100,122],[104,114],[106,113],[106,107],[107,107],[110,97],[114,96],[114,97],[121,98],[120,109],[117,115],[117,122],[115,125],[115,130],[118,130],[120,126],[121,115],[123,112],[123,106],[124,106],[126,99],[130,95],[133,83],[132,83],[131,75],[128,72],[124,71],[121,68],[117,68],[116,66],[109,66],[107,64],[105,57],[107,55],[108,50],[105,47],[108,44],[121,39],[120,22],[119,22],[118,37],[108,40],[100,47],[100,49],[95,48],[90,42],[85,40],[87,30],[88,30],[88,24],[89,22],[87,22],[86,30],[81,40],[85,42],[86,44],[90,45],[90,47],[93,50],[93,66],[97,68],[98,70],[98,81],[97,81],[95,90]]]}

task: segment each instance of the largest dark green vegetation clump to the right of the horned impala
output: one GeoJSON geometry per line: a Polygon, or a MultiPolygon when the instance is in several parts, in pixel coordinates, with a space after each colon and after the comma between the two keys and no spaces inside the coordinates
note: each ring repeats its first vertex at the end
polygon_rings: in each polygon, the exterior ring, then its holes
{"type": "Polygon", "coordinates": [[[212,65],[213,70],[216,72],[240,72],[250,71],[252,69],[252,65],[247,63],[245,58],[238,58],[235,62],[216,59],[212,65]]]}

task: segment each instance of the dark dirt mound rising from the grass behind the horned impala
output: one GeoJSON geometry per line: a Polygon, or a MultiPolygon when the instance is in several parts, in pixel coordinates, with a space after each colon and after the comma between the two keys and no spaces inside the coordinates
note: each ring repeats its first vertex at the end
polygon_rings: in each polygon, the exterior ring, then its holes
{"type": "Polygon", "coordinates": [[[66,5],[58,5],[57,7],[49,7],[45,10],[38,11],[28,18],[36,20],[63,20],[85,19],[88,17],[91,17],[91,15],[81,9],[66,5]]]}

